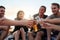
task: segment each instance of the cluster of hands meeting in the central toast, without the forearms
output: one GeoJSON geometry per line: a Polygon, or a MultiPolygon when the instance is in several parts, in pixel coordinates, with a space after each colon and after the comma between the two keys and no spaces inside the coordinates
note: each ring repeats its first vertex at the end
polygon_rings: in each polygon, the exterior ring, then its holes
{"type": "Polygon", "coordinates": [[[40,20],[40,21],[36,21],[36,20],[24,20],[25,22],[25,25],[28,26],[28,27],[33,27],[34,23],[37,25],[37,23],[39,23],[41,26],[48,26],[48,24],[46,24],[43,20],[40,20]]]}

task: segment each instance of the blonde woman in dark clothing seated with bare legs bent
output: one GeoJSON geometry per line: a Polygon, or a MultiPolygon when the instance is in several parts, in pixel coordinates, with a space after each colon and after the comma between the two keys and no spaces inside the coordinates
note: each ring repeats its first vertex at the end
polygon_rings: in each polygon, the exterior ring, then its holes
{"type": "MultiPolygon", "coordinates": [[[[24,12],[22,10],[18,11],[17,17],[15,18],[15,20],[25,20],[24,19],[24,12]]],[[[27,31],[28,31],[28,28],[23,25],[21,25],[21,27],[15,26],[15,29],[13,31],[13,33],[15,33],[15,35],[14,35],[15,39],[19,40],[22,37],[22,40],[25,40],[25,36],[26,36],[25,33],[27,33],[27,31]]]]}

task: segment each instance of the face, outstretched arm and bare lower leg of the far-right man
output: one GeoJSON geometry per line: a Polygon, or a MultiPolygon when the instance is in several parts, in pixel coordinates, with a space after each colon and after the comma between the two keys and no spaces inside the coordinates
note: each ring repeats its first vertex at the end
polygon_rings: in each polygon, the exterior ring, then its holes
{"type": "MultiPolygon", "coordinates": [[[[56,5],[51,5],[51,10],[53,15],[59,16],[60,17],[60,12],[59,12],[59,8],[56,5]]],[[[54,19],[50,19],[49,17],[47,17],[44,20],[45,23],[51,23],[51,24],[58,24],[60,23],[60,18],[54,18],[54,19]]],[[[45,25],[44,25],[45,26],[45,25]]],[[[54,27],[55,28],[55,27],[54,27]]],[[[47,28],[47,35],[48,38],[47,40],[50,40],[50,33],[51,33],[51,29],[47,28]]]]}

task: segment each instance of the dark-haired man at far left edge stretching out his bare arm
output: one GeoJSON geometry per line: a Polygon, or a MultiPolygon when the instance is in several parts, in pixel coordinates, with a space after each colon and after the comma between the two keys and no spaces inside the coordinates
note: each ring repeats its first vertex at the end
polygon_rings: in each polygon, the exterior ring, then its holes
{"type": "Polygon", "coordinates": [[[32,20],[20,20],[20,21],[16,21],[16,20],[10,20],[4,17],[5,15],[5,7],[4,6],[0,6],[0,40],[4,40],[4,38],[6,37],[6,34],[8,34],[8,30],[9,27],[8,26],[17,26],[17,25],[26,25],[26,26],[32,26],[33,21],[32,20]],[[5,33],[5,30],[7,33],[5,33]],[[3,36],[3,37],[2,37],[3,36]]]}

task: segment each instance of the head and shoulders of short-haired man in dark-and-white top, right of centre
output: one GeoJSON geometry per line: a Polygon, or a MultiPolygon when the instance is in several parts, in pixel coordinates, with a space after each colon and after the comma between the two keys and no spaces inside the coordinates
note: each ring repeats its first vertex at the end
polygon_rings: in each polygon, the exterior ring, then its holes
{"type": "Polygon", "coordinates": [[[47,15],[45,15],[45,12],[46,12],[46,7],[45,6],[41,6],[39,8],[39,13],[33,15],[34,19],[35,20],[40,20],[40,18],[44,18],[45,19],[47,17],[47,15]]]}

